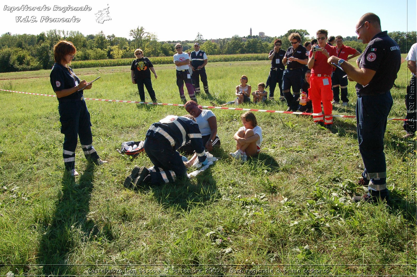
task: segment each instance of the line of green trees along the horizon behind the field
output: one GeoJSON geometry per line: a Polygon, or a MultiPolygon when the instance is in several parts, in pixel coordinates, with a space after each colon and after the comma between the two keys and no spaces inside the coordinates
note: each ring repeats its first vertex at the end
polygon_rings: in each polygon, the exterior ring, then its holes
{"type": "MultiPolygon", "coordinates": [[[[204,40],[203,35],[198,33],[194,41],[201,43],[201,50],[206,51],[207,55],[222,54],[249,54],[249,53],[269,53],[273,48],[273,41],[276,38],[282,40],[282,49],[286,50],[291,44],[288,35],[291,32],[298,32],[302,43],[310,41],[306,30],[288,30],[284,35],[277,37],[250,36],[240,37],[234,35],[231,38],[214,40],[204,40]]],[[[158,37],[146,32],[143,27],[130,30],[129,35],[133,39],[116,37],[114,34],[105,35],[103,31],[95,35],[83,35],[79,31],[49,30],[38,35],[10,34],[10,32],[0,37],[0,72],[28,71],[39,69],[50,69],[54,63],[53,46],[59,40],[72,41],[77,48],[74,60],[102,60],[134,58],[133,51],[141,48],[147,57],[172,56],[176,53],[174,45],[181,42],[183,50],[192,50],[194,41],[158,41],[158,37]]],[[[397,41],[401,52],[407,53],[409,47],[416,42],[416,32],[390,32],[389,35],[397,41]]],[[[344,37],[344,44],[362,52],[365,48],[357,37],[344,37]]]]}

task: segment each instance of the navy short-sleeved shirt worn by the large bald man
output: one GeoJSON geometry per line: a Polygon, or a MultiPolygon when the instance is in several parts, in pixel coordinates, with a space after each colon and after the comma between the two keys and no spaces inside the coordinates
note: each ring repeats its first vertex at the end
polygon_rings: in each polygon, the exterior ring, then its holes
{"type": "Polygon", "coordinates": [[[390,90],[397,79],[400,65],[401,55],[397,42],[387,35],[387,31],[375,35],[365,48],[359,67],[376,72],[368,85],[356,84],[357,95],[377,95],[390,90]]]}

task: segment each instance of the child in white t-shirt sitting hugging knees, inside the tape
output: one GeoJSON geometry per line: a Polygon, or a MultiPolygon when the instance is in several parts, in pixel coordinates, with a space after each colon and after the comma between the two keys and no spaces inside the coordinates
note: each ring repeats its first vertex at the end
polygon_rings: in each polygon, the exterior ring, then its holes
{"type": "Polygon", "coordinates": [[[243,127],[234,134],[236,152],[229,153],[234,159],[246,162],[248,156],[258,155],[261,151],[262,129],[258,126],[253,112],[245,112],[240,116],[243,127]]]}

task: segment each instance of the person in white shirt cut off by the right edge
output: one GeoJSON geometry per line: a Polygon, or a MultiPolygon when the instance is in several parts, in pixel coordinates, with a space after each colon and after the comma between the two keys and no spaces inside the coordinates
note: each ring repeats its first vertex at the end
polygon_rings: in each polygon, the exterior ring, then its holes
{"type": "Polygon", "coordinates": [[[403,127],[407,132],[404,137],[414,137],[416,131],[416,52],[417,43],[414,43],[405,58],[407,60],[407,67],[411,72],[411,79],[407,86],[407,95],[405,97],[405,105],[407,107],[407,116],[405,119],[408,121],[404,121],[403,127]]]}

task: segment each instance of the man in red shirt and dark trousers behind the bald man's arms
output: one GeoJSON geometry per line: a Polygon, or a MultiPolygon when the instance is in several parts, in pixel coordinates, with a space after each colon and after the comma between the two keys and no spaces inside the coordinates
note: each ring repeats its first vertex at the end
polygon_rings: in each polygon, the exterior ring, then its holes
{"type": "MultiPolygon", "coordinates": [[[[359,53],[358,50],[345,46],[343,44],[343,37],[341,35],[338,35],[336,37],[336,48],[337,48],[337,57],[348,61],[354,57],[359,56],[361,53],[359,53]],[[349,56],[351,55],[351,56],[349,56]]],[[[347,75],[343,70],[340,70],[339,68],[336,68],[332,75],[332,85],[333,85],[333,102],[332,104],[339,103],[339,87],[341,92],[341,98],[342,98],[342,105],[347,106],[347,102],[349,102],[349,99],[347,98],[347,75]]]]}

